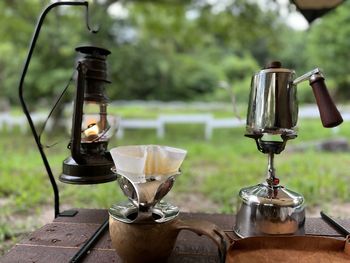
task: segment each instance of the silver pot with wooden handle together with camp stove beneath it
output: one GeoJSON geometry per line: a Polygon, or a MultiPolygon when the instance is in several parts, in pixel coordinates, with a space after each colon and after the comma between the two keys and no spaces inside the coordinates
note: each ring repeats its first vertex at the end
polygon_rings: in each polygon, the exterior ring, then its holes
{"type": "Polygon", "coordinates": [[[335,127],[343,119],[334,105],[316,68],[295,78],[294,70],[278,61],[252,77],[245,136],[253,138],[260,152],[267,154],[267,178],[258,185],[242,188],[234,226],[240,237],[290,235],[303,232],[304,198],[280,184],[274,168],[274,155],[288,140],[297,137],[297,84],[309,80],[324,127],[335,127]]]}

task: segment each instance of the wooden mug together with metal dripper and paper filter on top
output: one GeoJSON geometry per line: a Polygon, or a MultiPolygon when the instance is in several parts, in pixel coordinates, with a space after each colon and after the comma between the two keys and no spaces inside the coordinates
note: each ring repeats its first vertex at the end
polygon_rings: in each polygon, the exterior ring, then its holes
{"type": "Polygon", "coordinates": [[[163,200],[180,175],[186,151],[160,145],[119,146],[110,150],[113,172],[128,198],[109,209],[112,246],[124,262],[165,262],[182,230],[205,235],[225,261],[228,237],[215,224],[183,220],[179,208],[163,200]]]}

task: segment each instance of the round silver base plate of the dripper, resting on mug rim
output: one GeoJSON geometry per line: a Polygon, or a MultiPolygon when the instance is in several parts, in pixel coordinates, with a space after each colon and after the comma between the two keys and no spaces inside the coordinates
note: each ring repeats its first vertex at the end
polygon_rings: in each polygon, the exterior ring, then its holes
{"type": "Polygon", "coordinates": [[[168,222],[179,215],[179,208],[168,202],[160,201],[151,211],[142,212],[131,201],[123,201],[112,205],[109,209],[109,215],[118,221],[124,223],[164,223],[168,222]]]}

